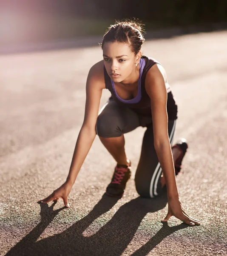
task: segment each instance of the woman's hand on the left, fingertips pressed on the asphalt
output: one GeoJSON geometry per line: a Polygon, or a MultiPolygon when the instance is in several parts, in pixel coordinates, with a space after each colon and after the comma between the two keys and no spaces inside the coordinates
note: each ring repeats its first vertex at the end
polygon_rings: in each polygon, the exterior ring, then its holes
{"type": "Polygon", "coordinates": [[[40,203],[48,203],[50,201],[58,201],[59,198],[62,198],[65,204],[65,207],[69,208],[68,204],[68,194],[71,191],[71,186],[67,183],[62,184],[58,189],[54,190],[54,192],[49,195],[47,198],[44,198],[43,200],[39,200],[40,203]]]}

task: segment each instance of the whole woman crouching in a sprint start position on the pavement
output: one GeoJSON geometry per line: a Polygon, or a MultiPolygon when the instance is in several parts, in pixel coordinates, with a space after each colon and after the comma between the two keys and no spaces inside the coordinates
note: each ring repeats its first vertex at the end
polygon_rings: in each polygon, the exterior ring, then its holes
{"type": "Polygon", "coordinates": [[[175,175],[181,169],[187,143],[181,140],[171,148],[177,106],[162,65],[142,55],[145,39],[141,25],[116,22],[105,33],[101,44],[103,60],[88,73],[85,117],[68,177],[60,188],[40,202],[62,198],[69,207],[68,194],[96,134],[117,163],[106,194],[121,197],[131,176],[124,133],[142,126],[147,130],[135,176],[137,192],[142,197],[153,198],[166,186],[168,213],[163,221],[174,215],[186,224],[200,224],[184,211],[179,200],[175,175]],[[111,98],[98,113],[103,89],[111,91],[111,98]]]}

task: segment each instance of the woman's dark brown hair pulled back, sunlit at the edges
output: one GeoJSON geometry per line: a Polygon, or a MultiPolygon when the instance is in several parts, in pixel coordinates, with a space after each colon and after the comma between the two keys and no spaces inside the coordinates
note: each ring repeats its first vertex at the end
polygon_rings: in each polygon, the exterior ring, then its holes
{"type": "Polygon", "coordinates": [[[128,43],[132,52],[136,55],[145,42],[142,33],[145,33],[143,29],[144,24],[138,20],[116,20],[114,25],[108,27],[105,32],[101,47],[105,42],[120,42],[128,43]]]}

